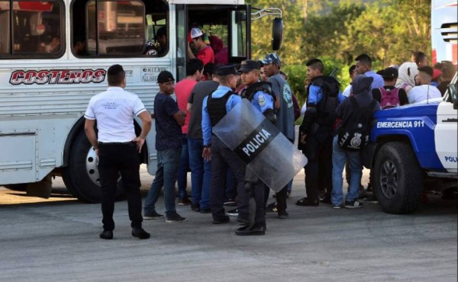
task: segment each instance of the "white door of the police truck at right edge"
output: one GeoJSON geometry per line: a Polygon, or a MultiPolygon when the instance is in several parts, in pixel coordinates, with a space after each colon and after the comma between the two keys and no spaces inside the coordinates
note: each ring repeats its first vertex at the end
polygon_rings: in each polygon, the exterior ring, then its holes
{"type": "MultiPolygon", "coordinates": [[[[457,148],[457,135],[458,135],[458,110],[457,110],[457,75],[452,80],[455,85],[451,93],[451,88],[447,91],[450,96],[451,102],[441,102],[437,111],[437,125],[434,129],[434,140],[436,144],[436,152],[439,156],[440,162],[448,172],[458,172],[458,148],[457,148]]],[[[447,100],[447,99],[446,99],[447,100]]]]}

